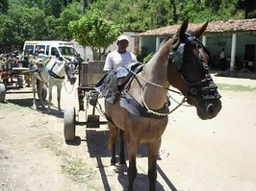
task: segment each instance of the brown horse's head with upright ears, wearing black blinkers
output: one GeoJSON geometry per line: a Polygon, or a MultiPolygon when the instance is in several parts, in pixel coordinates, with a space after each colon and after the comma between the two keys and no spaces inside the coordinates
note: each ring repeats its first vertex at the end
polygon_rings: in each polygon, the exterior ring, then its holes
{"type": "Polygon", "coordinates": [[[167,79],[185,95],[189,104],[196,107],[201,119],[211,119],[217,116],[221,102],[218,86],[208,71],[210,54],[198,39],[208,23],[194,32],[186,32],[188,23],[185,20],[170,39],[167,79]]]}

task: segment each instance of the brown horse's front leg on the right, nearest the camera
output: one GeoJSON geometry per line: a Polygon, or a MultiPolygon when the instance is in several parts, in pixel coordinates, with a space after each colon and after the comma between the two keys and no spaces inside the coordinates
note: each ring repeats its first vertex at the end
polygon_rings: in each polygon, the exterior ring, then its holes
{"type": "Polygon", "coordinates": [[[149,190],[156,190],[157,179],[157,157],[161,146],[161,139],[154,144],[148,145],[148,181],[149,190]]]}

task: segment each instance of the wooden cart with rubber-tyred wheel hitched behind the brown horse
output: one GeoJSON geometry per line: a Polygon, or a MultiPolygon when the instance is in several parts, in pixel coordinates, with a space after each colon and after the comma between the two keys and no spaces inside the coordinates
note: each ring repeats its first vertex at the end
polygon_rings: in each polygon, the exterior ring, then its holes
{"type": "Polygon", "coordinates": [[[100,125],[107,124],[107,121],[100,121],[100,113],[97,108],[98,93],[94,90],[94,85],[103,77],[104,61],[90,61],[79,63],[78,67],[78,111],[74,106],[64,109],[64,139],[72,141],[75,139],[76,126],[86,126],[87,128],[99,128],[100,125]],[[92,107],[92,109],[91,109],[92,107]],[[89,110],[91,114],[88,114],[89,110]],[[84,121],[79,116],[79,111],[86,111],[84,121]],[[98,113],[96,113],[96,111],[98,113]]]}

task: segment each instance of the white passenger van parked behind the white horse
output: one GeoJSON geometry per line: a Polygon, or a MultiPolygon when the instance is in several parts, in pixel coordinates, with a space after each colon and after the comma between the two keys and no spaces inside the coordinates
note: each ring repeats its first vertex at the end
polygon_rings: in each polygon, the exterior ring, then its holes
{"type": "Polygon", "coordinates": [[[38,50],[43,49],[44,54],[52,58],[64,57],[66,59],[81,59],[74,49],[73,43],[56,40],[27,40],[24,43],[23,51],[35,55],[38,50]]]}

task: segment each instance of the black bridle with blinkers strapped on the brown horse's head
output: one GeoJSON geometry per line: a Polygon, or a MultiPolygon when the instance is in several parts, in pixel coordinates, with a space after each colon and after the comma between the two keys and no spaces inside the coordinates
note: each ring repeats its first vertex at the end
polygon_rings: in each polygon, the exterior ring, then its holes
{"type": "MultiPolygon", "coordinates": [[[[200,51],[203,49],[206,53],[208,53],[206,47],[202,44],[202,42],[197,39],[192,34],[186,33],[185,40],[183,40],[176,48],[172,49],[168,54],[168,64],[170,62],[174,63],[177,68],[177,71],[187,85],[188,90],[185,97],[199,97],[202,100],[213,100],[219,99],[220,95],[218,94],[218,86],[214,83],[211,75],[208,72],[208,65],[205,63],[203,59],[202,52],[200,51]],[[183,57],[184,57],[184,49],[186,44],[192,43],[195,45],[199,52],[199,59],[202,65],[202,71],[204,72],[204,79],[197,82],[197,83],[190,83],[186,80],[185,76],[182,73],[182,68],[184,67],[183,57]]],[[[210,57],[210,55],[208,54],[210,57]]]]}

